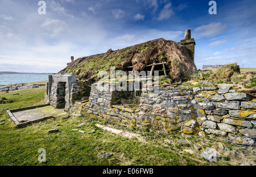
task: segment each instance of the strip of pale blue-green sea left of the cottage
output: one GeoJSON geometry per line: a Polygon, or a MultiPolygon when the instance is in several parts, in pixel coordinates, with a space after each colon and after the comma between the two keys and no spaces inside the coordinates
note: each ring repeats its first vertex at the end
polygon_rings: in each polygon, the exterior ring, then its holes
{"type": "Polygon", "coordinates": [[[48,81],[49,74],[0,74],[0,85],[48,81]]]}

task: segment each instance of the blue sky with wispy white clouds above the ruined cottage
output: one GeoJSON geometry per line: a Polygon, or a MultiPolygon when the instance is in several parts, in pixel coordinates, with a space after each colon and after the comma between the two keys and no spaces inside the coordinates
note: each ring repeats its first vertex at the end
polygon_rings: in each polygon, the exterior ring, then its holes
{"type": "Polygon", "coordinates": [[[0,0],[0,71],[56,73],[75,58],[163,37],[196,41],[195,64],[256,68],[256,1],[0,0]]]}

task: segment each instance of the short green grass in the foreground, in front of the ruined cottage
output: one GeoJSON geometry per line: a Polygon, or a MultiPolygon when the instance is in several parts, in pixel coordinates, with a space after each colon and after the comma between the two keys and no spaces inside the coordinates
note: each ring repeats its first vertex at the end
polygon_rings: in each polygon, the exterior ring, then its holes
{"type": "MultiPolygon", "coordinates": [[[[6,109],[32,106],[43,102],[44,88],[0,93],[14,100],[10,104],[0,104],[0,165],[1,166],[102,166],[102,165],[152,165],[152,166],[229,166],[249,162],[256,165],[255,147],[231,144],[221,137],[188,136],[179,132],[158,134],[129,130],[141,134],[143,141],[126,138],[96,127],[97,120],[84,117],[60,116],[16,128],[6,114],[6,109]],[[19,93],[19,95],[13,95],[19,93]],[[77,125],[85,123],[82,127],[77,125]],[[59,128],[59,132],[47,133],[48,129],[59,128]],[[78,129],[84,131],[79,132],[78,129]],[[191,146],[181,146],[177,140],[185,138],[191,146]],[[168,139],[168,141],[167,141],[168,139]],[[224,150],[218,149],[222,142],[224,150]],[[193,144],[202,150],[194,149],[193,144]],[[215,148],[222,155],[216,163],[200,157],[205,148],[215,148]],[[46,162],[39,162],[39,149],[46,150],[46,162]],[[114,155],[99,158],[101,151],[114,155]]],[[[100,123],[104,124],[104,123],[100,123]]],[[[124,129],[116,127],[118,129],[124,129]]]]}

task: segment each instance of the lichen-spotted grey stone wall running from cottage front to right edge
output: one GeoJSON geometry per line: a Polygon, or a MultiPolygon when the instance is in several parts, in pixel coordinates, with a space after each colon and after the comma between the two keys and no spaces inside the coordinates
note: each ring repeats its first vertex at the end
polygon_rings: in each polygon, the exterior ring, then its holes
{"type": "Polygon", "coordinates": [[[230,87],[152,87],[144,90],[137,108],[116,105],[119,92],[92,85],[86,112],[99,120],[130,128],[171,133],[205,133],[253,145],[256,138],[256,100],[230,87]]]}

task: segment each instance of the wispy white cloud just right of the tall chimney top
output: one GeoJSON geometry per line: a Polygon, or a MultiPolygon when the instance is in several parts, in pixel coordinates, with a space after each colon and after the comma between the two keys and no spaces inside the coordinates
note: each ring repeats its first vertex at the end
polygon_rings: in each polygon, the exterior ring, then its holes
{"type": "Polygon", "coordinates": [[[221,22],[213,22],[194,29],[198,37],[213,37],[223,32],[228,26],[221,22]]]}

